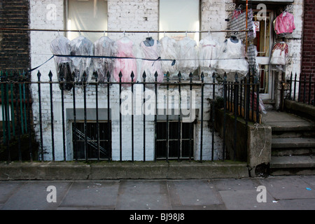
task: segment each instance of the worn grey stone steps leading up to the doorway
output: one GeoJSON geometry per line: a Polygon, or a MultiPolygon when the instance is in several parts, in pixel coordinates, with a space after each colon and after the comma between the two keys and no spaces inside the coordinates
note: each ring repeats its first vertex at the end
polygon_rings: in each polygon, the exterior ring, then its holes
{"type": "Polygon", "coordinates": [[[269,173],[315,174],[315,124],[290,113],[269,113],[272,158],[269,173]]]}

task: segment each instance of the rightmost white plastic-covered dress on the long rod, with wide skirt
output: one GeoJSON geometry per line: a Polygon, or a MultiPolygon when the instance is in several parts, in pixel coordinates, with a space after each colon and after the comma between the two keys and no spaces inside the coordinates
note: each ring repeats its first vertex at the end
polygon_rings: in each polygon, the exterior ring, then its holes
{"type": "Polygon", "coordinates": [[[237,43],[230,38],[225,40],[221,45],[216,63],[216,71],[223,78],[224,73],[227,75],[228,82],[235,82],[235,73],[238,74],[238,80],[246,76],[249,64],[244,57],[244,45],[238,40],[237,43]]]}

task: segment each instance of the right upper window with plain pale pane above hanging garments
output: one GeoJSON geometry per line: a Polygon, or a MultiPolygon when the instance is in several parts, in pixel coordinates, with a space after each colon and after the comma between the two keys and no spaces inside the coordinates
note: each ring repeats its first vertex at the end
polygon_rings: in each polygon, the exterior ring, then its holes
{"type": "MultiPolygon", "coordinates": [[[[199,0],[160,0],[160,31],[199,31],[199,0]]],[[[160,34],[160,38],[164,34],[160,34]]],[[[186,34],[167,34],[180,40],[186,34]]],[[[199,42],[199,33],[188,33],[187,36],[199,42]]]]}

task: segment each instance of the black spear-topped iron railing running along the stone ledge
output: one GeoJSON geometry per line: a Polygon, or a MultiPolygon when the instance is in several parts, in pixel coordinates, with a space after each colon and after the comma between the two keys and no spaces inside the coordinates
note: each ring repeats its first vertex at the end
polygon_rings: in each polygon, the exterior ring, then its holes
{"type": "MultiPolygon", "coordinates": [[[[223,120],[223,136],[221,136],[223,141],[222,146],[222,157],[221,160],[225,160],[225,151],[226,151],[226,144],[225,144],[225,136],[228,132],[227,125],[226,125],[226,118],[227,116],[234,116],[235,118],[235,125],[234,125],[234,147],[236,148],[237,142],[237,120],[239,118],[244,119],[246,121],[246,125],[248,122],[253,123],[260,123],[260,106],[259,105],[259,86],[260,83],[255,80],[253,77],[247,76],[243,80],[238,79],[237,73],[235,74],[235,82],[228,82],[226,75],[218,79],[218,75],[214,73],[212,75],[212,81],[206,82],[204,80],[204,73],[201,73],[200,80],[193,80],[193,73],[190,73],[188,80],[183,80],[181,77],[181,73],[178,74],[178,79],[170,80],[169,73],[165,76],[165,81],[162,83],[158,83],[158,74],[155,73],[155,81],[154,82],[146,82],[146,73],[144,72],[142,75],[142,81],[135,81],[134,80],[134,73],[131,73],[131,82],[130,83],[123,83],[121,82],[123,74],[120,73],[120,82],[113,82],[111,81],[111,74],[108,72],[106,74],[104,82],[98,81],[97,73],[94,73],[95,80],[87,82],[87,73],[83,73],[83,80],[79,81],[53,81],[52,80],[52,72],[48,73],[48,78],[45,77],[45,81],[42,80],[42,75],[38,71],[37,73],[37,81],[31,81],[31,73],[14,73],[10,80],[5,75],[5,73],[1,73],[1,106],[2,106],[2,125],[3,125],[3,132],[1,134],[1,151],[2,154],[1,160],[7,160],[10,162],[11,160],[47,160],[45,158],[45,154],[51,155],[51,161],[55,160],[69,160],[69,148],[71,148],[73,153],[73,160],[112,160],[112,134],[113,134],[113,123],[111,120],[111,112],[110,109],[111,105],[111,89],[118,86],[118,95],[114,96],[115,99],[118,99],[119,106],[123,104],[123,99],[121,96],[123,89],[130,90],[132,94],[134,93],[134,86],[140,85],[142,88],[141,95],[144,95],[141,98],[141,108],[144,108],[144,113],[141,114],[142,118],[142,125],[141,128],[143,129],[143,136],[137,136],[137,139],[142,139],[142,147],[143,147],[143,158],[142,160],[145,162],[146,154],[149,151],[154,151],[153,153],[153,160],[159,160],[160,155],[162,156],[163,160],[169,161],[170,159],[176,158],[176,160],[204,160],[204,144],[207,141],[207,144],[211,146],[211,155],[209,155],[210,160],[214,160],[214,139],[215,139],[215,128],[214,123],[218,122],[216,120],[215,110],[221,109],[224,113],[224,120],[223,120]],[[23,79],[23,77],[26,77],[23,79]],[[64,84],[69,84],[71,86],[66,90],[64,84]],[[57,87],[58,86],[58,87],[57,87]],[[90,113],[88,109],[91,109],[91,106],[87,106],[87,86],[89,90],[94,91],[94,119],[92,119],[93,125],[88,125],[91,122],[91,119],[88,118],[87,113],[90,113]],[[147,137],[146,137],[146,125],[148,115],[146,114],[146,107],[144,106],[146,103],[149,102],[148,88],[150,86],[151,93],[154,92],[155,95],[153,96],[153,108],[155,109],[155,113],[153,113],[153,139],[154,139],[154,146],[149,147],[147,145],[147,137]],[[45,87],[45,91],[42,87],[45,87]],[[48,87],[48,88],[47,88],[48,87]],[[207,87],[207,90],[205,90],[207,87]],[[78,95],[76,91],[78,88],[83,90],[83,93],[78,95]],[[99,90],[100,89],[106,92],[106,106],[109,109],[105,115],[100,114],[99,112],[99,90]],[[194,125],[196,123],[197,118],[193,118],[193,120],[188,121],[188,125],[185,127],[189,127],[189,131],[183,130],[183,114],[169,114],[166,113],[164,118],[158,118],[158,90],[162,88],[166,91],[169,90],[176,90],[179,93],[179,102],[175,102],[175,104],[179,104],[179,108],[181,109],[181,104],[183,104],[183,91],[190,91],[190,105],[193,101],[191,97],[191,93],[194,90],[200,92],[200,99],[197,99],[196,102],[198,103],[197,110],[200,110],[201,117],[198,118],[197,123],[200,124],[200,128],[198,129],[198,134],[194,135],[194,125]],[[105,90],[106,89],[106,90],[105,90]],[[8,91],[10,90],[10,91],[8,91]],[[30,94],[30,90],[32,90],[32,94],[30,94]],[[57,148],[56,146],[56,139],[55,139],[55,109],[54,109],[54,95],[56,92],[59,92],[61,97],[61,113],[62,118],[59,122],[62,125],[62,149],[57,148]],[[33,98],[33,102],[31,101],[31,96],[33,98]],[[8,100],[11,97],[11,101],[8,100]],[[77,99],[82,99],[83,97],[83,114],[78,114],[78,102],[77,99]],[[66,98],[66,101],[65,100],[66,98]],[[211,105],[205,106],[207,104],[206,99],[211,99],[211,105]],[[221,99],[221,104],[218,103],[219,99],[221,99]],[[69,141],[69,120],[66,120],[66,106],[69,107],[71,104],[71,141],[69,141]],[[216,106],[215,106],[216,105],[216,106]],[[45,107],[45,117],[43,117],[43,106],[45,107]],[[31,108],[36,108],[36,113],[31,108]],[[38,109],[38,111],[37,111],[38,109]],[[204,112],[205,111],[211,112],[211,118],[207,120],[207,122],[211,123],[209,127],[204,127],[204,112]],[[11,111],[11,115],[9,115],[9,111],[11,111]],[[49,116],[48,116],[49,114],[49,116]],[[100,118],[102,116],[102,119],[100,118]],[[80,118],[79,118],[80,117],[80,118]],[[165,126],[160,125],[159,127],[165,127],[165,130],[162,130],[162,136],[160,139],[158,137],[158,122],[161,122],[161,119],[165,126]],[[36,122],[34,123],[34,120],[36,122]],[[172,125],[170,123],[172,122],[172,125]],[[177,122],[177,125],[174,125],[174,122],[177,122]],[[24,125],[21,125],[21,124],[24,125]],[[50,133],[47,130],[43,130],[43,123],[49,123],[50,133]],[[80,123],[80,125],[78,125],[80,123]],[[83,125],[82,125],[83,123],[83,125]],[[177,126],[177,127],[176,127],[177,126]],[[34,128],[36,127],[36,128],[34,128]],[[67,129],[68,127],[68,129],[67,129]],[[174,127],[174,128],[173,128],[174,127]],[[175,128],[176,127],[176,128],[175,128]],[[173,128],[173,130],[172,130],[173,128]],[[204,137],[204,128],[209,128],[209,132],[211,132],[212,137],[204,137]],[[174,136],[174,130],[176,130],[176,138],[170,138],[170,134],[174,136]],[[45,132],[45,136],[43,136],[45,132]],[[185,133],[183,133],[185,132],[185,133]],[[50,136],[47,136],[48,133],[50,136]],[[26,138],[28,141],[27,153],[25,155],[25,145],[22,142],[22,134],[26,134],[26,138]],[[103,136],[102,136],[103,134],[103,136]],[[200,137],[200,139],[194,139],[195,136],[200,137]],[[34,141],[36,139],[36,141],[34,141]],[[50,139],[50,146],[45,144],[44,148],[44,139],[50,139]],[[68,140],[67,140],[68,139],[68,140]],[[16,144],[13,144],[13,141],[16,144]],[[163,146],[158,142],[163,142],[163,146]],[[172,144],[171,144],[172,141],[172,144]],[[177,141],[177,143],[176,143],[177,141]],[[211,144],[209,144],[211,141],[211,144]],[[37,144],[34,144],[37,143],[37,144]],[[183,144],[188,144],[189,146],[185,145],[185,149],[183,149],[183,144]],[[198,144],[193,144],[198,143],[198,144]],[[36,146],[38,145],[38,148],[36,146]],[[196,148],[197,147],[197,148],[196,148]],[[161,149],[162,148],[162,149],[161,149]],[[80,151],[82,149],[82,151],[80,151]],[[62,159],[56,159],[56,150],[62,150],[62,159]],[[165,151],[165,152],[162,152],[165,151]],[[91,151],[93,151],[91,153],[91,151]],[[159,151],[159,152],[158,152],[159,151]],[[198,157],[194,157],[194,151],[199,152],[198,157]],[[13,157],[13,154],[16,154],[16,157],[13,157]],[[93,155],[91,158],[91,155],[93,155]],[[185,155],[185,156],[183,156],[185,155]]],[[[72,74],[74,77],[74,73],[72,74]]],[[[166,96],[167,102],[170,100],[168,92],[166,96]]],[[[189,98],[189,97],[188,97],[189,98]]],[[[152,99],[151,99],[152,100],[152,99]]],[[[134,97],[131,99],[131,107],[132,111],[134,110],[134,97]]],[[[167,104],[168,105],[168,104],[167,104]]],[[[82,108],[81,108],[82,109],[82,108]]],[[[167,109],[167,108],[166,108],[167,109]]],[[[193,110],[193,108],[189,108],[189,110],[193,110]]],[[[135,159],[135,146],[138,144],[139,141],[135,141],[135,133],[134,133],[134,113],[131,114],[130,122],[130,132],[131,135],[131,160],[134,161],[135,159]]],[[[137,121],[139,123],[139,121],[137,121]]],[[[118,128],[119,129],[119,159],[123,161],[123,153],[124,147],[123,142],[125,141],[123,136],[123,114],[119,114],[118,120],[118,128]]],[[[139,125],[139,124],[137,124],[139,125]]],[[[125,133],[125,132],[124,132],[125,133]]],[[[59,134],[59,133],[58,133],[59,134]]],[[[137,132],[139,134],[139,132],[137,132]]],[[[59,141],[59,139],[58,139],[59,141]]],[[[235,150],[236,151],[236,150],[235,150]]],[[[139,151],[137,151],[139,153],[139,151]]],[[[0,154],[0,155],[1,155],[0,154]]],[[[208,156],[208,155],[207,155],[208,156]]],[[[235,155],[234,155],[235,158],[235,155]]]]}

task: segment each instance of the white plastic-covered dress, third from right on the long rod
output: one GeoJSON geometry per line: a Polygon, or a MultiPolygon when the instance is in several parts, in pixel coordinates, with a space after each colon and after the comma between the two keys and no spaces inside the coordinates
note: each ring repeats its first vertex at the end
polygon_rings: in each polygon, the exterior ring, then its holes
{"type": "Polygon", "coordinates": [[[194,72],[199,66],[197,55],[197,43],[195,40],[185,37],[178,42],[179,68],[184,80],[189,78],[189,73],[194,72]]]}

